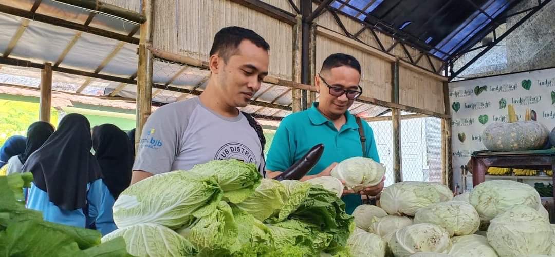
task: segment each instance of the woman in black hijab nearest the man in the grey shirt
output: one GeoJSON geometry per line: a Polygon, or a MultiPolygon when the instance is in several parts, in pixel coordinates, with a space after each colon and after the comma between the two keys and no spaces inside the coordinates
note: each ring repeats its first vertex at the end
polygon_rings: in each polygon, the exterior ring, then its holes
{"type": "Polygon", "coordinates": [[[102,180],[108,189],[104,192],[102,207],[94,227],[103,235],[117,229],[112,217],[112,207],[119,194],[129,187],[133,160],[127,134],[112,124],[102,124],[93,129],[94,157],[97,158],[102,180]]]}

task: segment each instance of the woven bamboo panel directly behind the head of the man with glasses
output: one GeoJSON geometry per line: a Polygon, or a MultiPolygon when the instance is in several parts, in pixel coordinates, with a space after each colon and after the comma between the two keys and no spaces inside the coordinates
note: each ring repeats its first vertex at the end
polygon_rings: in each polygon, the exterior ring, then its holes
{"type": "Polygon", "coordinates": [[[391,63],[359,49],[318,35],[316,37],[316,72],[320,71],[327,56],[345,53],[354,56],[362,65],[360,85],[362,95],[391,102],[391,63]]]}

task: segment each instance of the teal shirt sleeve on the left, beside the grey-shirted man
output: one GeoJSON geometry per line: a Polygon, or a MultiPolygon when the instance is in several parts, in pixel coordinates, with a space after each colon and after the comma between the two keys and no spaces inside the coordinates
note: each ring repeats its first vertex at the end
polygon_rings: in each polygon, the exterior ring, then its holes
{"type": "Polygon", "coordinates": [[[269,171],[285,171],[293,165],[294,142],[288,124],[287,119],[282,120],[274,135],[266,158],[266,169],[269,171]]]}

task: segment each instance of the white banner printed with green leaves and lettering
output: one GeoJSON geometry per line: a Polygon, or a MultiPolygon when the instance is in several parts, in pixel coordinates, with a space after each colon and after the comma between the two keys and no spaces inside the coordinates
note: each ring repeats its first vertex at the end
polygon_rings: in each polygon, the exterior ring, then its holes
{"type": "Polygon", "coordinates": [[[453,181],[460,187],[461,165],[472,152],[486,150],[482,132],[493,122],[508,120],[507,105],[514,106],[519,120],[531,109],[549,131],[555,127],[555,69],[455,81],[449,83],[449,99],[453,181]]]}

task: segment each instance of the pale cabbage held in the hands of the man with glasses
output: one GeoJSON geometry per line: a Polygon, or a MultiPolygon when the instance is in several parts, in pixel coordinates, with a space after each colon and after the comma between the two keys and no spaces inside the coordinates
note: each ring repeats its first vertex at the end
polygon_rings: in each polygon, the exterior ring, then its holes
{"type": "Polygon", "coordinates": [[[385,168],[371,158],[348,158],[331,170],[331,176],[345,181],[345,186],[359,192],[365,187],[376,186],[384,178],[385,168]]]}

